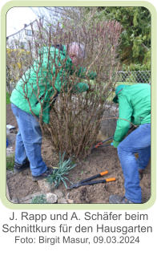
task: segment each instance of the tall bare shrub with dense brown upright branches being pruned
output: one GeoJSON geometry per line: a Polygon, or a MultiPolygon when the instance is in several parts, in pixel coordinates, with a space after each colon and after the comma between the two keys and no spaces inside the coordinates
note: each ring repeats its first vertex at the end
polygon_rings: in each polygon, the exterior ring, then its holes
{"type": "Polygon", "coordinates": [[[66,21],[62,26],[58,24],[55,27],[43,26],[42,22],[38,22],[38,29],[34,30],[32,26],[32,31],[30,59],[34,59],[34,63],[22,75],[23,94],[30,105],[30,112],[35,116],[30,104],[31,96],[35,95],[40,104],[42,133],[48,136],[55,151],[66,152],[66,156],[86,156],[95,144],[100,120],[115,88],[116,78],[113,74],[119,66],[116,51],[121,25],[119,22],[106,21],[90,22],[85,26],[82,22],[74,29],[66,21]],[[62,59],[62,50],[56,48],[52,55],[51,46],[62,44],[68,50],[71,42],[83,43],[86,56],[78,59],[76,67],[67,70],[67,52],[62,59]],[[44,47],[48,49],[46,53],[44,47]],[[31,91],[28,91],[32,71],[36,74],[34,83],[38,90],[31,83],[31,91]],[[59,91],[56,88],[58,79],[59,91]],[[42,97],[41,81],[44,84],[42,97]],[[80,83],[86,83],[89,90],[80,91],[80,83]],[[49,112],[49,108],[50,123],[46,124],[42,116],[44,112],[49,112]]]}

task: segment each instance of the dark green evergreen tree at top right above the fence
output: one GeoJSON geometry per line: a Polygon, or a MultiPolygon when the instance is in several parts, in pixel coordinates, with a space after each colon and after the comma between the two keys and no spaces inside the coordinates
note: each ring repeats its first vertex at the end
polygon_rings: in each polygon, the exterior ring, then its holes
{"type": "Polygon", "coordinates": [[[121,59],[123,63],[143,63],[151,47],[151,14],[144,7],[119,7],[115,19],[123,25],[121,59]]]}

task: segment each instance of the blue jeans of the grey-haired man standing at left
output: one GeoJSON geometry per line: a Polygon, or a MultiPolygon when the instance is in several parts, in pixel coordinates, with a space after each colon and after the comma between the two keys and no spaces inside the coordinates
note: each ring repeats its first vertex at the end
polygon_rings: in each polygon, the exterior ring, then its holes
{"type": "Polygon", "coordinates": [[[33,176],[45,173],[47,167],[42,161],[42,132],[38,120],[14,104],[11,104],[11,108],[18,123],[15,162],[22,165],[27,157],[30,161],[30,170],[33,176]]]}

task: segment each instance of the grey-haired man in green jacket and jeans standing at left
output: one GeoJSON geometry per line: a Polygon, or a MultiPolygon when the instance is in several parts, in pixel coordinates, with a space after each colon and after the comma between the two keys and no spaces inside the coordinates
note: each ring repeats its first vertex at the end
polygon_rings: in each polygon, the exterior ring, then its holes
{"type": "MultiPolygon", "coordinates": [[[[50,106],[62,89],[66,91],[69,75],[75,72],[79,77],[87,75],[90,79],[95,79],[95,72],[86,74],[86,69],[78,65],[84,57],[85,51],[81,43],[42,47],[38,51],[38,59],[34,60],[12,91],[11,108],[18,122],[15,173],[30,167],[34,181],[53,173],[54,170],[42,160],[42,132],[38,117],[42,116],[42,121],[49,123],[50,106]]],[[[80,93],[88,89],[87,83],[76,83],[71,91],[80,93]]]]}

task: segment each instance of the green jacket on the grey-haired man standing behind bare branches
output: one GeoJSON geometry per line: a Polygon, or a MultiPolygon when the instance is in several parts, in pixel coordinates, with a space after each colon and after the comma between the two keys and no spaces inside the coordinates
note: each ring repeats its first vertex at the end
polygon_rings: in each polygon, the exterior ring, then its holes
{"type": "MultiPolygon", "coordinates": [[[[22,79],[18,81],[12,91],[10,102],[25,112],[30,114],[33,112],[35,116],[39,116],[43,102],[42,120],[48,124],[50,121],[50,98],[52,99],[53,95],[59,93],[62,87],[66,91],[66,81],[69,75],[74,72],[74,67],[72,67],[70,57],[66,55],[66,46],[62,46],[62,51],[59,51],[56,47],[42,47],[38,54],[38,59],[22,75],[22,79]],[[64,64],[64,68],[62,68],[62,62],[64,63],[65,59],[66,65],[64,64]],[[54,61],[58,67],[61,67],[58,72],[54,67],[55,65],[51,67],[54,61]],[[57,91],[51,85],[53,79],[57,91]]],[[[86,69],[79,67],[76,75],[83,78],[85,73],[86,69]]],[[[95,72],[89,72],[87,76],[90,79],[95,79],[96,74],[95,72]]],[[[88,88],[87,83],[76,83],[73,92],[87,91],[88,88]]]]}

